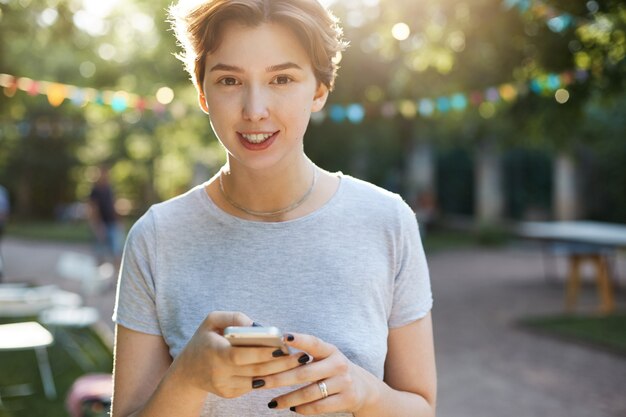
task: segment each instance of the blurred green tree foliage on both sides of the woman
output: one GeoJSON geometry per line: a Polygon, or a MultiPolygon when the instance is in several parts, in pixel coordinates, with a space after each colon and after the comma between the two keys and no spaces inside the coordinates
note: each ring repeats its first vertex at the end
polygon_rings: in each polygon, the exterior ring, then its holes
{"type": "MultiPolygon", "coordinates": [[[[20,214],[51,216],[59,204],[84,199],[93,167],[104,161],[113,164],[118,195],[138,213],[219,166],[223,152],[174,57],[169,3],[0,0],[0,73],[151,99],[162,87],[175,93],[159,113],[70,100],[52,107],[43,95],[0,92],[0,181],[20,214]]],[[[329,106],[363,103],[366,118],[312,123],[305,146],[328,169],[402,191],[404,158],[418,141],[443,146],[447,161],[455,160],[454,148],[483,141],[540,153],[580,143],[601,150],[603,129],[623,132],[623,118],[606,111],[623,95],[626,79],[621,1],[337,0],[332,8],[351,46],[329,106]],[[533,11],[537,5],[568,13],[572,24],[550,29],[549,19],[533,11]],[[518,87],[576,68],[589,70],[590,78],[567,87],[564,104],[553,90],[518,87]],[[482,94],[485,102],[486,88],[507,83],[516,88],[510,101],[418,114],[418,99],[461,92],[482,94]],[[395,115],[381,115],[386,102],[395,115]]],[[[464,207],[470,200],[464,198],[464,207]]]]}

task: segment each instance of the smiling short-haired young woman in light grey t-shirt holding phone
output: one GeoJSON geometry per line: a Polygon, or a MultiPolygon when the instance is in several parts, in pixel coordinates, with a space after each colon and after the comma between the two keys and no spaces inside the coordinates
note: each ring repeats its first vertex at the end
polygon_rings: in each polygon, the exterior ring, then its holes
{"type": "Polygon", "coordinates": [[[315,0],[214,0],[172,14],[227,162],[129,234],[113,417],[433,416],[415,215],[303,150],[345,46],[336,20],[315,0]],[[294,353],[232,347],[224,328],[253,320],[288,331],[294,353]]]}

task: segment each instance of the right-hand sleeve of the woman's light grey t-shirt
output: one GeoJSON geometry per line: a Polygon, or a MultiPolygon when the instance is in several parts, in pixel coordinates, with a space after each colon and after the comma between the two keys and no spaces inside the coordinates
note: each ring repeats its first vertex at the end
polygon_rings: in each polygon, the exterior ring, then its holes
{"type": "Polygon", "coordinates": [[[389,327],[402,327],[428,314],[433,305],[430,276],[413,210],[401,202],[396,251],[396,277],[389,327]]]}

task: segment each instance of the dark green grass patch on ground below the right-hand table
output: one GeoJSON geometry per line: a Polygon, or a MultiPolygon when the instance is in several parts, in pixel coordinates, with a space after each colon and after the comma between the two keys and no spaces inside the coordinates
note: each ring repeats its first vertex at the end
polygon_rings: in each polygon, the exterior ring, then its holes
{"type": "Polygon", "coordinates": [[[626,313],[533,317],[521,320],[520,324],[543,334],[626,355],[626,313]]]}

